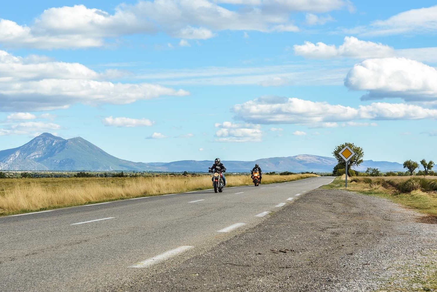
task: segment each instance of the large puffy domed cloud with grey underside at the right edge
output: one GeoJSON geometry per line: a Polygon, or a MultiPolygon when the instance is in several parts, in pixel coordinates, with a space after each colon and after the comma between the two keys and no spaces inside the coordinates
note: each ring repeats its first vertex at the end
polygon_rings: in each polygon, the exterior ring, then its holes
{"type": "Polygon", "coordinates": [[[347,73],[344,85],[366,90],[362,100],[400,97],[405,101],[437,101],[437,70],[405,58],[368,59],[347,73]]]}

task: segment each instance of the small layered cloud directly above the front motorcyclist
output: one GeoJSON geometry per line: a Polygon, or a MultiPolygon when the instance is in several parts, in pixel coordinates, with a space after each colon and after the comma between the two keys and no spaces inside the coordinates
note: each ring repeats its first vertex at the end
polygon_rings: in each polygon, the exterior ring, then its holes
{"type": "Polygon", "coordinates": [[[215,132],[218,142],[261,142],[260,125],[223,122],[216,123],[215,127],[220,128],[215,132]]]}

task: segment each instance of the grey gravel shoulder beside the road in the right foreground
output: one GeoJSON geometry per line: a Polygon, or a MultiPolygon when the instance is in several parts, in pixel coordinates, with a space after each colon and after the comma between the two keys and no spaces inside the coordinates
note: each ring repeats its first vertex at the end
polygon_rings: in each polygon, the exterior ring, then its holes
{"type": "Polygon", "coordinates": [[[420,216],[318,189],[212,250],[102,291],[437,291],[437,225],[420,216]]]}

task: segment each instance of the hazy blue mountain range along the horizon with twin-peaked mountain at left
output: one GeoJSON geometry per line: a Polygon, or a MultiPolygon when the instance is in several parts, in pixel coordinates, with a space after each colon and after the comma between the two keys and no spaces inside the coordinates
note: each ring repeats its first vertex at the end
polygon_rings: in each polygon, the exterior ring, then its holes
{"type": "MultiPolygon", "coordinates": [[[[255,163],[267,171],[329,172],[336,165],[333,157],[301,154],[289,157],[263,158],[255,161],[223,161],[229,172],[245,172],[255,163]]],[[[87,140],[76,137],[63,139],[43,133],[23,146],[0,151],[0,170],[138,170],[138,171],[207,171],[212,160],[182,160],[170,163],[142,163],[122,160],[104,152],[87,140]]],[[[402,171],[402,164],[364,160],[357,170],[368,167],[381,171],[402,171]]]]}

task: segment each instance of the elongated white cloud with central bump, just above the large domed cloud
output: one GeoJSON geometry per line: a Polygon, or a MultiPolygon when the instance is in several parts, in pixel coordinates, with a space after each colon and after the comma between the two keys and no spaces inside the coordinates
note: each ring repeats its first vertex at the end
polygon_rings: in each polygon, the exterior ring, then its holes
{"type": "Polygon", "coordinates": [[[383,58],[395,54],[395,50],[381,43],[361,41],[355,37],[345,37],[343,45],[338,48],[335,45],[326,45],[323,42],[313,44],[305,42],[304,45],[294,45],[295,55],[309,59],[332,59],[332,58],[383,58]]]}

